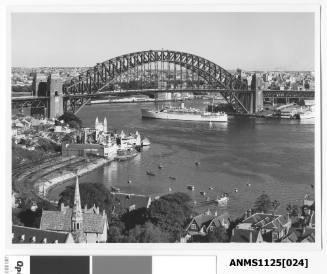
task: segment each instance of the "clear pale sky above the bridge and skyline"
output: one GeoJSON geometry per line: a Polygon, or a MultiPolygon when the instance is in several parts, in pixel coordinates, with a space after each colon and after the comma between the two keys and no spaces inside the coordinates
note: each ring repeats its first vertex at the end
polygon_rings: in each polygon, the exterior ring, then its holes
{"type": "Polygon", "coordinates": [[[13,13],[12,66],[93,66],[169,49],[225,69],[314,70],[313,13],[13,13]]]}

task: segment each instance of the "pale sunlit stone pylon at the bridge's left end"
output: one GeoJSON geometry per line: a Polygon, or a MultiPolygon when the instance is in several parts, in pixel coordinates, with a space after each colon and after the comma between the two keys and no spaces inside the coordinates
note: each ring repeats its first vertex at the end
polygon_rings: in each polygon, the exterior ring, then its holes
{"type": "Polygon", "coordinates": [[[52,74],[49,76],[49,118],[57,118],[64,113],[62,85],[63,80],[59,75],[52,74]]]}

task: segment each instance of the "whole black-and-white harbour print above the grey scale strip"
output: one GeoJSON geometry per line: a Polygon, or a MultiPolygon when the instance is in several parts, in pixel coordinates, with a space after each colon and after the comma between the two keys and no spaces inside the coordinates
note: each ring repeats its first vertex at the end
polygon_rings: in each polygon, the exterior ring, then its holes
{"type": "Polygon", "coordinates": [[[11,12],[12,244],[316,243],[317,16],[11,12]]]}

